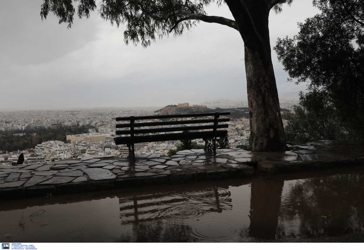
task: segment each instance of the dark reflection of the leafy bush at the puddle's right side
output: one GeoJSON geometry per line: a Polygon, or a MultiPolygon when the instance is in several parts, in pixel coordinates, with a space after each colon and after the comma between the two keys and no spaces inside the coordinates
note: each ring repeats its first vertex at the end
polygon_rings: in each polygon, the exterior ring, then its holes
{"type": "Polygon", "coordinates": [[[364,176],[337,174],[290,182],[277,237],[319,237],[363,231],[364,176]]]}

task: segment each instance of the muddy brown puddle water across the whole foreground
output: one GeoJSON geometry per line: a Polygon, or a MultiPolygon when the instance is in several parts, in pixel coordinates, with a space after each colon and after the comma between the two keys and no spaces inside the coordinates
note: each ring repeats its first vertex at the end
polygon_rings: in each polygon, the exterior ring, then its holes
{"type": "Polygon", "coordinates": [[[364,170],[356,167],[1,201],[0,239],[363,241],[363,198],[364,170]]]}

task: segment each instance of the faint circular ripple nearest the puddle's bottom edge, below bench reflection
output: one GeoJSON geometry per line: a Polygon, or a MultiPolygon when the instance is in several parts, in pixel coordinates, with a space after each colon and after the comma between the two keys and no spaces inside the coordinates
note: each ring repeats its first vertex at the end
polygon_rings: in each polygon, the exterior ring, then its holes
{"type": "Polygon", "coordinates": [[[225,241],[234,238],[237,231],[233,226],[223,222],[208,222],[195,227],[191,234],[203,241],[225,241]]]}

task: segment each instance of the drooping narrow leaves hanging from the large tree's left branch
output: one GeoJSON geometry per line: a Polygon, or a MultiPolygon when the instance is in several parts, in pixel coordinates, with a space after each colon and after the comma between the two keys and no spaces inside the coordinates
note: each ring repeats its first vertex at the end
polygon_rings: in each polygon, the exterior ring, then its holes
{"type": "MultiPolygon", "coordinates": [[[[90,12],[96,9],[95,0],[44,0],[40,15],[42,19],[46,19],[48,13],[53,12],[59,23],[67,23],[68,28],[71,28],[76,13],[73,2],[79,3],[79,18],[88,18],[90,12]]],[[[191,20],[192,18],[186,19],[184,15],[174,11],[205,14],[204,6],[211,2],[213,0],[101,0],[98,12],[104,20],[110,21],[111,25],[125,26],[126,44],[131,41],[133,44],[141,43],[143,47],[147,47],[155,41],[156,36],[167,36],[173,27],[173,34],[178,36],[198,22],[191,20]],[[177,22],[179,23],[175,27],[177,22]]]]}

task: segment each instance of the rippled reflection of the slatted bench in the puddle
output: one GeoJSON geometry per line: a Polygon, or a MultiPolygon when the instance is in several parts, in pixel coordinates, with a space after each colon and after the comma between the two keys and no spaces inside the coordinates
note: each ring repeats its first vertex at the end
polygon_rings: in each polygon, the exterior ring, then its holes
{"type": "Polygon", "coordinates": [[[211,187],[182,193],[142,194],[119,199],[122,224],[154,219],[193,219],[232,209],[230,192],[211,187]]]}

